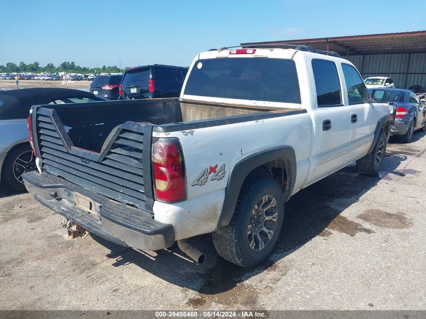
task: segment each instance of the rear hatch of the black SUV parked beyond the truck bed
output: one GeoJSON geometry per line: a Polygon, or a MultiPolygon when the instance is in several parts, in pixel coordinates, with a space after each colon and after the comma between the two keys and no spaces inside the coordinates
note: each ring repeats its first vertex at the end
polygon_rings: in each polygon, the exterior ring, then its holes
{"type": "Polygon", "coordinates": [[[149,80],[151,79],[151,67],[128,70],[121,82],[123,97],[143,98],[145,94],[149,93],[149,80]]]}

